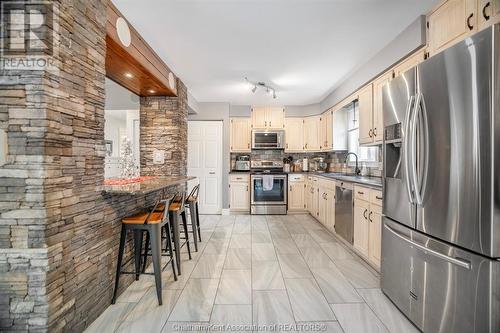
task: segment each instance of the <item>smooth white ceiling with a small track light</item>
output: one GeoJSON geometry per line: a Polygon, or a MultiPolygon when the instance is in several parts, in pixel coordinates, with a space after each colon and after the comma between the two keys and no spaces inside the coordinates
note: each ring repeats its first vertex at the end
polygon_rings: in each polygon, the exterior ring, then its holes
{"type": "Polygon", "coordinates": [[[113,0],[199,102],[320,102],[436,0],[113,0]],[[276,89],[253,94],[244,82],[276,89]]]}

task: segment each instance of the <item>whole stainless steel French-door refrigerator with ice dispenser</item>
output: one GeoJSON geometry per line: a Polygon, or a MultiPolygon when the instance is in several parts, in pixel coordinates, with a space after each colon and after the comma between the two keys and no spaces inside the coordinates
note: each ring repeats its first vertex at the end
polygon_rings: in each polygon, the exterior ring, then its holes
{"type": "Polygon", "coordinates": [[[381,286],[424,332],[500,332],[500,28],[384,87],[381,286]]]}

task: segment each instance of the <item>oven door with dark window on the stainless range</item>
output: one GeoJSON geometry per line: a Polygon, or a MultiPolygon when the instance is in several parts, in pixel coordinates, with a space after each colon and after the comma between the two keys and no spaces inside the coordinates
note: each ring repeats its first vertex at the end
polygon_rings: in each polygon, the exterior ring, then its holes
{"type": "MultiPolygon", "coordinates": [[[[271,181],[270,181],[271,182],[271,181]]],[[[286,205],[287,185],[286,175],[252,175],[252,205],[286,205]],[[266,177],[271,177],[272,188],[265,184],[266,177]]]]}

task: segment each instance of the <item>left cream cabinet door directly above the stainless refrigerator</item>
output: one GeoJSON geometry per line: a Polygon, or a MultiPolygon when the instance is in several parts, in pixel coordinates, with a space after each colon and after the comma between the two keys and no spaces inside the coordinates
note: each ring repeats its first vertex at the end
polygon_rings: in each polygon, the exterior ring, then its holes
{"type": "Polygon", "coordinates": [[[477,31],[478,0],[446,0],[427,17],[429,53],[434,55],[477,31]]]}

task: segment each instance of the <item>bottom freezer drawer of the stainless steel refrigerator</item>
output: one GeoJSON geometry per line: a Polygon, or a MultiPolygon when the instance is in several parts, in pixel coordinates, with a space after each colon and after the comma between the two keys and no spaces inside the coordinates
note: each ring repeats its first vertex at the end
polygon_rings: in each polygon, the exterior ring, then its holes
{"type": "Polygon", "coordinates": [[[424,332],[500,332],[500,262],[384,218],[382,289],[424,332]]]}

